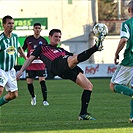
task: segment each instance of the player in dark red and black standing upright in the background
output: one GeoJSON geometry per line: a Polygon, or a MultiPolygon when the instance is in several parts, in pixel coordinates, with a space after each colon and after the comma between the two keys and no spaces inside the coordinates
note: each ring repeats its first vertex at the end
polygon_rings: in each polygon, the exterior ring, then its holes
{"type": "MultiPolygon", "coordinates": [[[[47,40],[40,36],[41,32],[41,24],[35,23],[33,27],[34,35],[28,36],[23,45],[23,50],[27,49],[27,57],[29,58],[30,55],[33,53],[34,49],[38,45],[45,45],[48,44],[47,40]]],[[[49,103],[47,102],[47,87],[45,84],[45,64],[39,59],[35,59],[26,69],[26,80],[29,93],[31,95],[31,105],[36,105],[36,95],[34,93],[34,85],[33,81],[34,78],[38,76],[42,95],[43,95],[43,105],[47,106],[49,103]]]]}

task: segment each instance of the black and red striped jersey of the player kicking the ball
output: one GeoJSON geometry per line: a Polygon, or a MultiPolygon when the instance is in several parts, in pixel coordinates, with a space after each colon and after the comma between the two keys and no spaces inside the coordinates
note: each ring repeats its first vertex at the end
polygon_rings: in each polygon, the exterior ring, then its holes
{"type": "Polygon", "coordinates": [[[46,64],[47,68],[51,68],[51,63],[57,58],[72,56],[73,53],[66,51],[63,48],[48,45],[39,45],[32,53],[35,57],[40,57],[40,59],[46,64]]]}

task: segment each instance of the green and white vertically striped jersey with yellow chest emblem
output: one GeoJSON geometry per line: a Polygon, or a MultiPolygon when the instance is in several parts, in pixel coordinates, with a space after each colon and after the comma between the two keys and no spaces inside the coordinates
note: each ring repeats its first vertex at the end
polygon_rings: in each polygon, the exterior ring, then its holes
{"type": "Polygon", "coordinates": [[[16,62],[17,49],[20,47],[18,36],[12,33],[10,38],[7,38],[4,33],[0,34],[0,68],[9,71],[16,62]]]}

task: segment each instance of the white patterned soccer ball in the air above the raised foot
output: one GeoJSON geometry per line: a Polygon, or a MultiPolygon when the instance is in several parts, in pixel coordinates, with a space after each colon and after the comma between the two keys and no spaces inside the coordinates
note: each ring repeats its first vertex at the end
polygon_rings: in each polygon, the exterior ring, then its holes
{"type": "Polygon", "coordinates": [[[98,37],[101,34],[106,36],[108,34],[108,27],[103,23],[97,23],[93,27],[93,32],[94,32],[96,37],[98,37]]]}

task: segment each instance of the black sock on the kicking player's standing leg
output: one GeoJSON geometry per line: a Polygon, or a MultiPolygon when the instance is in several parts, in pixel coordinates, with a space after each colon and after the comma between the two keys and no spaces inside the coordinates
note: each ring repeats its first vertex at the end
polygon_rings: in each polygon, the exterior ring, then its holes
{"type": "Polygon", "coordinates": [[[80,111],[81,115],[87,114],[87,108],[89,105],[90,97],[91,97],[91,91],[84,90],[81,97],[81,103],[82,103],[80,111]]]}

